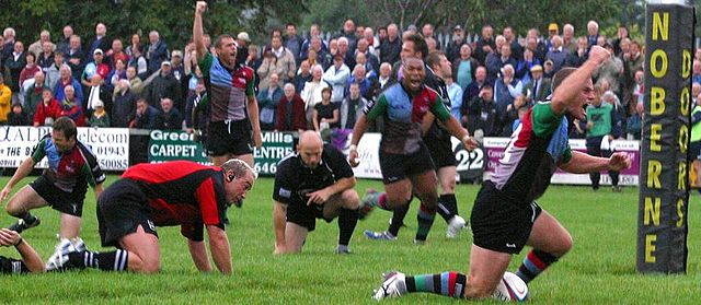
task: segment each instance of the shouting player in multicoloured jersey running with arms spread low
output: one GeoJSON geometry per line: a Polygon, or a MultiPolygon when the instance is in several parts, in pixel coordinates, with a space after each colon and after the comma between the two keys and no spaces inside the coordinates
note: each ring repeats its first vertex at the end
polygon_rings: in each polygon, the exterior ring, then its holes
{"type": "Polygon", "coordinates": [[[450,116],[440,96],[424,85],[426,71],[423,60],[409,57],[403,60],[402,67],[404,78],[401,83],[387,89],[358,118],[350,140],[349,160],[352,165],[357,166],[356,145],[367,130],[368,122],[384,117],[380,169],[386,192],[368,192],[363,204],[394,210],[409,204],[412,196],[416,195],[427,212],[433,210],[435,214],[437,177],[430,154],[422,140],[423,118],[433,113],[470,150],[476,146],[476,141],[450,116]]]}

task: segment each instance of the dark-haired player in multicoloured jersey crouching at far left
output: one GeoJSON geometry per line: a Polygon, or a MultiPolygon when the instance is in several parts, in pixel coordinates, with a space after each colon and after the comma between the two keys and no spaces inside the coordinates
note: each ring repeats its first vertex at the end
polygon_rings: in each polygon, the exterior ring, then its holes
{"type": "Polygon", "coordinates": [[[99,198],[105,180],[97,159],[85,144],[77,140],[77,133],[73,120],[58,118],[51,133],[39,140],[32,155],[22,162],[0,193],[0,200],[4,201],[12,188],[46,156],[48,168],[32,184],[20,189],[10,199],[5,210],[20,219],[9,227],[18,233],[39,224],[39,219],[30,210],[49,206],[59,212],[60,241],[51,258],[69,247],[85,247],[79,235],[88,185],[94,188],[95,198],[99,198]]]}

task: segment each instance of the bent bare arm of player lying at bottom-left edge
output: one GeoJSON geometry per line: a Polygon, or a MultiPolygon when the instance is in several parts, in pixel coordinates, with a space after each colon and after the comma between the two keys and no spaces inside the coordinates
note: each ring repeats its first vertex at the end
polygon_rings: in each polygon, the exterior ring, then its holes
{"type": "Polygon", "coordinates": [[[32,246],[19,233],[8,228],[0,228],[0,247],[10,246],[14,246],[22,259],[0,256],[0,274],[44,272],[44,262],[42,262],[42,258],[32,246]]]}

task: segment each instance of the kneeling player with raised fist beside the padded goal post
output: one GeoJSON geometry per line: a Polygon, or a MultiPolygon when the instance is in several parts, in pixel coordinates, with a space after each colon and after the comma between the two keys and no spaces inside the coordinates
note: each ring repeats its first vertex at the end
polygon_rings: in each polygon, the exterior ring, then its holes
{"type": "Polygon", "coordinates": [[[594,98],[591,73],[609,58],[606,49],[594,46],[582,67],[564,68],[555,73],[552,99],[536,104],[514,131],[494,175],[483,184],[472,209],[474,242],[470,273],[406,277],[392,272],[376,290],[375,298],[407,292],[490,297],[512,256],[524,246],[532,247],[517,271],[525,282],[572,248],[570,233],[535,200],[543,195],[558,167],[577,174],[630,167],[627,153],[617,152],[608,159],[589,156],[572,151],[567,141],[567,117],[585,119],[584,106],[594,98]]]}

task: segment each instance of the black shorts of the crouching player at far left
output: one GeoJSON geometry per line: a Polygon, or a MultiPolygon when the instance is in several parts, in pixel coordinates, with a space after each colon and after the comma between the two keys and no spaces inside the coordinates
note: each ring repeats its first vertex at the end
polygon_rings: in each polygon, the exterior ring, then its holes
{"type": "Polygon", "coordinates": [[[44,175],[36,178],[30,186],[54,210],[79,218],[83,215],[83,201],[88,186],[77,186],[73,192],[67,192],[56,187],[44,175]]]}

